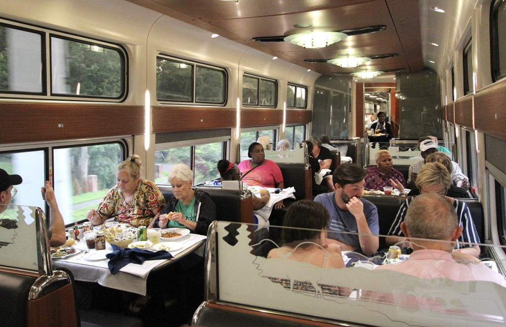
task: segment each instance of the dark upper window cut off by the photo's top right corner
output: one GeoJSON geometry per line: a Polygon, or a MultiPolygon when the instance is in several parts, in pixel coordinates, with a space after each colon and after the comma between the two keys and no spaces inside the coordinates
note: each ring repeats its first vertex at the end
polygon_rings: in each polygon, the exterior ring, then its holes
{"type": "Polygon", "coordinates": [[[492,80],[506,76],[506,1],[498,0],[491,6],[490,55],[492,80]]]}

